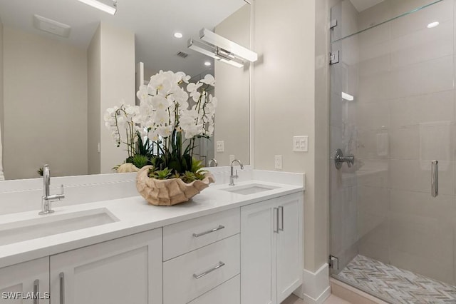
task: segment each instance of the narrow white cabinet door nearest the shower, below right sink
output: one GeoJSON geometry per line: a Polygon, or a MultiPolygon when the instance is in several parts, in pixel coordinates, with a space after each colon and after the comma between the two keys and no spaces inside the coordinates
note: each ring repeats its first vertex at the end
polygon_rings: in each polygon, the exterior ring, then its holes
{"type": "Polygon", "coordinates": [[[278,198],[277,303],[285,300],[302,283],[303,245],[302,195],[278,198]]]}

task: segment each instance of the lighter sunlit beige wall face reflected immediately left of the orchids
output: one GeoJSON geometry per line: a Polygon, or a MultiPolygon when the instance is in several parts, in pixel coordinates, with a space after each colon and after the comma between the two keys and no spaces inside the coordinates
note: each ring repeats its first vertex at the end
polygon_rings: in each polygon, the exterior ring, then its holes
{"type": "Polygon", "coordinates": [[[116,147],[103,115],[106,108],[135,104],[135,34],[102,23],[100,41],[100,173],[110,173],[128,154],[116,147]]]}

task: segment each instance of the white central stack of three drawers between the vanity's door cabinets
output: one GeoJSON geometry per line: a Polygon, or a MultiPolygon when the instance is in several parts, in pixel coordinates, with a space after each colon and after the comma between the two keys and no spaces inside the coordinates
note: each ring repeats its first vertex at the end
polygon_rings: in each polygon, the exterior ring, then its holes
{"type": "Polygon", "coordinates": [[[240,211],[163,228],[163,304],[239,304],[240,211]]]}

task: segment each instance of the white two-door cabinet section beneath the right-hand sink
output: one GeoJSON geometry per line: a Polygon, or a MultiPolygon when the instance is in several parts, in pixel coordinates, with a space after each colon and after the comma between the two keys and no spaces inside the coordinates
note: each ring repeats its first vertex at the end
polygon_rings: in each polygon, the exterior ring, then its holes
{"type": "Polygon", "coordinates": [[[278,304],[302,283],[302,193],[241,208],[241,303],[278,304]]]}

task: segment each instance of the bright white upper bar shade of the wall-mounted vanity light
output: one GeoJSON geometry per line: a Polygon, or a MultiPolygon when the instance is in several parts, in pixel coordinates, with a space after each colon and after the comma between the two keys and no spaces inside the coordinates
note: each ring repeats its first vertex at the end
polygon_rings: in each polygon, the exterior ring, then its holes
{"type": "Polygon", "coordinates": [[[208,44],[217,46],[220,49],[228,51],[234,56],[240,57],[250,62],[258,60],[258,54],[254,51],[250,51],[249,49],[244,48],[244,46],[240,46],[239,44],[236,44],[229,39],[215,34],[213,31],[209,31],[208,29],[202,29],[199,31],[199,38],[202,41],[206,41],[208,44]]]}

